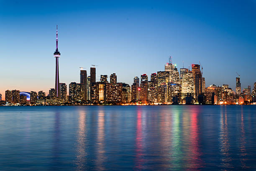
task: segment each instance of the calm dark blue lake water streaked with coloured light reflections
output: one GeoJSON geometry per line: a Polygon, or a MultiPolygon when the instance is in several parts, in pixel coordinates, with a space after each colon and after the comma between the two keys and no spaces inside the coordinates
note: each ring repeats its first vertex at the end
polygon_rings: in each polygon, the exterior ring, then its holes
{"type": "Polygon", "coordinates": [[[256,106],[0,107],[0,170],[256,170],[256,106]]]}

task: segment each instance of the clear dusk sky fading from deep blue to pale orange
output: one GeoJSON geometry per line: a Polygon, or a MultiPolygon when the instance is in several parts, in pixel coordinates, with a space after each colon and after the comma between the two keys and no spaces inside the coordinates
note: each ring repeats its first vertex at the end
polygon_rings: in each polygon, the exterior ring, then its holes
{"type": "Polygon", "coordinates": [[[0,0],[0,93],[48,93],[54,87],[56,24],[60,82],[79,82],[91,64],[118,82],[203,66],[206,86],[256,82],[256,1],[4,1],[0,0]]]}

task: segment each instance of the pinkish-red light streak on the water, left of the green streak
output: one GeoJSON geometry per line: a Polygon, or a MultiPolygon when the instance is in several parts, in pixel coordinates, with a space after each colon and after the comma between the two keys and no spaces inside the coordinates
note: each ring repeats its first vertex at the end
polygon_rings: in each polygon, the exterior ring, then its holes
{"type": "Polygon", "coordinates": [[[142,119],[141,119],[141,111],[137,112],[137,126],[136,126],[136,161],[135,167],[136,170],[143,169],[143,135],[142,135],[142,119]]]}

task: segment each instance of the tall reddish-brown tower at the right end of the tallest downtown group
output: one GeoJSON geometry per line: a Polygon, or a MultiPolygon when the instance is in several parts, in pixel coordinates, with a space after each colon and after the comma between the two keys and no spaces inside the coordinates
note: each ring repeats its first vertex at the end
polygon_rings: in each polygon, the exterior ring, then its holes
{"type": "Polygon", "coordinates": [[[198,95],[202,94],[202,74],[200,71],[200,65],[192,64],[192,73],[195,83],[195,98],[197,98],[198,95]]]}

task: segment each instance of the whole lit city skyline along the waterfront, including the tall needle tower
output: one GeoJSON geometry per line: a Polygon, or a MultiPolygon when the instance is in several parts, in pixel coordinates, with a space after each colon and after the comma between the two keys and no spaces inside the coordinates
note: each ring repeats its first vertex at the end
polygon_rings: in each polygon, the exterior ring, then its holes
{"type": "MultiPolygon", "coordinates": [[[[59,57],[58,30],[56,31],[56,74],[55,89],[49,90],[49,95],[40,91],[30,92],[30,103],[36,105],[60,105],[60,104],[195,104],[209,103],[222,104],[237,103],[241,98],[251,100],[256,97],[256,83],[253,93],[251,87],[241,92],[240,76],[236,78],[236,92],[228,85],[211,85],[205,88],[205,78],[199,64],[192,64],[192,70],[176,68],[176,64],[165,64],[165,71],[158,71],[151,74],[150,81],[146,74],[141,79],[134,77],[134,83],[130,86],[125,83],[118,83],[115,73],[110,75],[108,82],[107,75],[100,75],[100,82],[96,82],[96,68],[90,68],[90,76],[87,71],[80,71],[80,83],[69,84],[69,95],[67,85],[59,82],[59,57]]],[[[93,66],[93,65],[92,65],[93,66]]],[[[26,94],[25,94],[26,95],[26,94]]],[[[20,96],[18,90],[7,90],[5,100],[9,103],[26,103],[24,94],[20,96]],[[23,102],[22,102],[23,101],[23,102]]]]}

